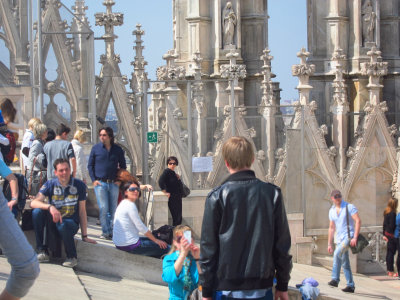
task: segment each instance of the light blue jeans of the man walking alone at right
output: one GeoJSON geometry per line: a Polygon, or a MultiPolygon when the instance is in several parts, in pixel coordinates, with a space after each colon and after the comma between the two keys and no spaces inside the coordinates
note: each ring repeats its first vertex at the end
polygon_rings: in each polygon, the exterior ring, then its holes
{"type": "Polygon", "coordinates": [[[343,267],[344,277],[347,280],[347,286],[354,287],[353,274],[351,273],[349,260],[349,244],[350,241],[345,239],[336,245],[333,253],[332,279],[340,281],[340,268],[343,267]]]}

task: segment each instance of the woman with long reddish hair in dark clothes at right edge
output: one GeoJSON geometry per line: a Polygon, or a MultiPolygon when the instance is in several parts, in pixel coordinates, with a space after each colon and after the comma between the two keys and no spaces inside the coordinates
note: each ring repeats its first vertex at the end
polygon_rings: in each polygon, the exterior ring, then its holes
{"type": "MultiPolygon", "coordinates": [[[[396,254],[397,240],[394,236],[396,229],[396,213],[398,202],[397,199],[390,198],[389,202],[383,212],[383,239],[387,242],[386,251],[386,268],[388,276],[397,277],[398,274],[394,273],[393,263],[394,255],[396,254]]],[[[399,272],[399,258],[397,258],[397,272],[399,272]]]]}

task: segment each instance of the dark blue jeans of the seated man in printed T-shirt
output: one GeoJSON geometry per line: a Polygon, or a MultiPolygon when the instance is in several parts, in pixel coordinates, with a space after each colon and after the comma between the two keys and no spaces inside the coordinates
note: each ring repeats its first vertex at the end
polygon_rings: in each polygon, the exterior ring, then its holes
{"type": "MultiPolygon", "coordinates": [[[[44,228],[46,226],[47,211],[40,208],[35,208],[32,211],[33,229],[36,237],[36,249],[38,251],[46,250],[43,245],[44,228]]],[[[54,224],[54,223],[53,223],[54,224]]],[[[68,258],[77,257],[74,235],[78,232],[79,224],[72,219],[63,219],[62,223],[56,223],[58,234],[60,235],[63,243],[65,254],[68,258]]]]}

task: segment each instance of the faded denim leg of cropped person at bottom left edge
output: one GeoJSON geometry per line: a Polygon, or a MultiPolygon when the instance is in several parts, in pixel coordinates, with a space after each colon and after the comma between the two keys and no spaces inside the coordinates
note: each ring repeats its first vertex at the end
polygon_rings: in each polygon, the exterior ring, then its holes
{"type": "Polygon", "coordinates": [[[7,206],[0,192],[0,248],[11,265],[6,290],[15,297],[24,297],[39,275],[35,251],[7,206]]]}

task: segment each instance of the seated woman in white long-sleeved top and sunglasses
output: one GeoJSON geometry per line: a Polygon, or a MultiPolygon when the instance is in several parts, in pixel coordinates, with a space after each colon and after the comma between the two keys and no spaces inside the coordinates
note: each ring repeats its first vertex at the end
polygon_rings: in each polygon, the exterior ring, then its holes
{"type": "Polygon", "coordinates": [[[137,181],[127,182],[122,186],[124,200],[115,211],[113,242],[123,251],[160,258],[169,250],[166,242],[154,237],[140,219],[135,201],[140,197],[137,181]],[[140,237],[139,233],[146,237],[140,237]]]}

